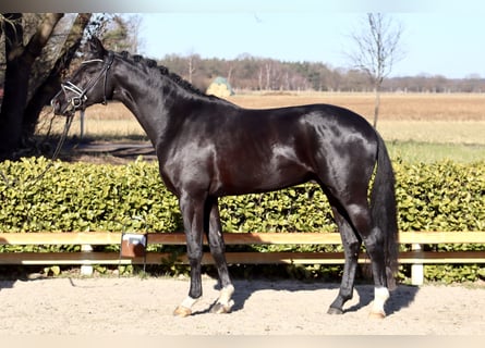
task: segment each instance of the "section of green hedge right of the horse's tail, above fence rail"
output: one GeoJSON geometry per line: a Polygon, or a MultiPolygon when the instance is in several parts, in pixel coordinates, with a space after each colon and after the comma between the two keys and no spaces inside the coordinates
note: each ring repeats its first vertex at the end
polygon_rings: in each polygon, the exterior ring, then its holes
{"type": "Polygon", "coordinates": [[[485,162],[395,163],[400,231],[484,231],[485,162]]]}

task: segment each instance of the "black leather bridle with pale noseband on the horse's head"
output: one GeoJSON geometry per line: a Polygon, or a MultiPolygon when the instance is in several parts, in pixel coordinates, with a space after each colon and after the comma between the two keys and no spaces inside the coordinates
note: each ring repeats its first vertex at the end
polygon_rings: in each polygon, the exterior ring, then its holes
{"type": "MultiPolygon", "coordinates": [[[[66,113],[74,113],[76,110],[83,109],[84,103],[87,101],[87,97],[86,94],[94,87],[96,86],[96,84],[104,78],[104,90],[105,90],[105,95],[102,97],[102,104],[106,105],[108,103],[107,97],[106,97],[106,84],[107,84],[107,79],[108,79],[108,71],[111,67],[112,63],[114,60],[114,53],[109,51],[108,52],[108,59],[106,61],[104,61],[102,59],[92,59],[92,60],[87,60],[82,62],[81,64],[89,64],[89,63],[97,63],[97,62],[104,62],[105,64],[102,65],[102,69],[99,71],[99,74],[92,78],[86,86],[83,88],[81,88],[77,85],[74,85],[73,83],[71,83],[70,80],[62,83],[61,84],[61,90],[59,91],[59,94],[63,92],[65,100],[71,104],[71,108],[66,110],[66,113]],[[74,96],[69,98],[69,94],[73,94],[74,96]]],[[[59,94],[57,94],[56,97],[59,96],[59,94]]],[[[56,100],[56,97],[52,99],[56,100]]],[[[53,107],[53,105],[52,105],[53,107]]]]}

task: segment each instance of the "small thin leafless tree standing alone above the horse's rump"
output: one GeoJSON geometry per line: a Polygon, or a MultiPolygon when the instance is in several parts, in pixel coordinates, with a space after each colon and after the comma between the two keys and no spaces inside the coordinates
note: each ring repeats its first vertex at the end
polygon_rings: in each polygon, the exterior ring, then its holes
{"type": "Polygon", "coordinates": [[[349,53],[354,67],[365,72],[376,94],[374,127],[377,126],[380,108],[380,87],[393,64],[402,59],[399,44],[402,27],[383,13],[367,13],[364,28],[352,34],[356,49],[349,53]]]}

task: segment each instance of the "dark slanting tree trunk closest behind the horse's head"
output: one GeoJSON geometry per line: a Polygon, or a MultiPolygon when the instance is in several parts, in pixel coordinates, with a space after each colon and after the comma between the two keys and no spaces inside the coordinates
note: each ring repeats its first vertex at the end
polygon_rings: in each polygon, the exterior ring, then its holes
{"type": "Polygon", "coordinates": [[[92,13],[80,13],[77,15],[50,74],[36,89],[28,102],[24,113],[23,139],[31,138],[34,135],[41,110],[61,88],[61,73],[70,65],[75,52],[80,48],[84,29],[92,13]]]}

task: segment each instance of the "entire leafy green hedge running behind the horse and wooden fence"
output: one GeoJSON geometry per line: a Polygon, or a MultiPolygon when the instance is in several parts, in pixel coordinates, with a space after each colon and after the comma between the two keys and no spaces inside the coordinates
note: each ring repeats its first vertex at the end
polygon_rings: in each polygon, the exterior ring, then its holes
{"type": "MultiPolygon", "coordinates": [[[[400,231],[485,229],[485,162],[393,166],[400,231]]],[[[182,231],[177,199],[162,185],[158,165],[142,160],[128,165],[51,163],[44,158],[5,161],[0,163],[0,232],[182,231]]],[[[226,197],[219,206],[228,232],[337,228],[314,184],[226,197]]],[[[436,278],[439,272],[433,272],[436,278]]]]}

